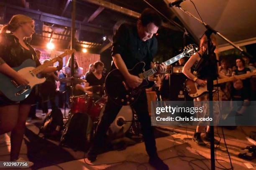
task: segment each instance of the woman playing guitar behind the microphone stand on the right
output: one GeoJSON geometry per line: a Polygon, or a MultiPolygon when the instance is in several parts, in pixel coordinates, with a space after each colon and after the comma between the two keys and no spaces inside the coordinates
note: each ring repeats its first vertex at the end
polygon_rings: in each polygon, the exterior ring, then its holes
{"type": "MultiPolygon", "coordinates": [[[[211,35],[210,38],[212,40],[212,44],[214,46],[216,46],[216,38],[213,35],[211,35]]],[[[204,62],[202,62],[202,63],[200,62],[202,60],[202,58],[203,58],[202,56],[205,54],[205,52],[207,52],[207,36],[204,34],[200,40],[200,51],[197,52],[195,55],[192,55],[192,57],[189,58],[189,60],[186,62],[186,64],[183,67],[183,70],[182,70],[184,75],[186,75],[189,79],[194,80],[194,82],[197,82],[197,84],[200,86],[207,85],[207,81],[205,79],[207,78],[207,73],[208,73],[207,70],[209,69],[209,67],[204,65],[204,62]],[[199,71],[195,72],[195,75],[192,74],[192,72],[190,72],[190,69],[194,65],[196,66],[195,70],[199,70],[199,71]],[[200,69],[197,69],[198,67],[200,67],[200,69]]],[[[216,55],[215,52],[216,52],[216,49],[214,51],[214,55],[216,55]]],[[[216,68],[214,68],[214,69],[217,72],[217,65],[216,65],[216,68]]],[[[223,75],[222,73],[219,73],[219,77],[227,78],[227,76],[223,75]]],[[[221,96],[219,98],[221,100],[221,96]]],[[[194,99],[194,101],[207,101],[207,100],[209,100],[209,95],[207,93],[202,94],[199,97],[194,99]]],[[[218,100],[217,93],[213,93],[213,100],[218,100]]],[[[197,105],[199,103],[200,102],[195,102],[195,105],[197,105]]],[[[201,106],[198,106],[198,107],[201,107],[201,106]]],[[[216,111],[215,106],[214,106],[213,110],[214,110],[213,114],[214,114],[215,120],[218,120],[219,112],[216,111]]],[[[206,108],[204,108],[202,115],[198,115],[198,117],[207,117],[207,114],[209,114],[209,112],[207,111],[206,108]]],[[[206,146],[206,144],[203,142],[203,140],[201,138],[201,133],[204,129],[205,129],[205,126],[200,126],[200,122],[199,122],[199,124],[197,125],[197,128],[196,128],[196,131],[193,135],[193,138],[192,138],[198,145],[202,145],[202,146],[206,146]]],[[[205,140],[210,141],[210,126],[209,125],[206,128],[205,140]]],[[[218,140],[215,139],[214,143],[218,143],[218,140]]]]}

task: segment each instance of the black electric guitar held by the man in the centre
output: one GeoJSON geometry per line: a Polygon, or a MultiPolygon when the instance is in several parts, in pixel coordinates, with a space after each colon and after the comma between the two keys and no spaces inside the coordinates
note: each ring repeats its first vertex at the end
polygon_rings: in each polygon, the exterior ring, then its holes
{"type": "MultiPolygon", "coordinates": [[[[187,47],[184,47],[181,54],[165,61],[164,64],[166,66],[171,65],[182,57],[192,56],[197,51],[197,45],[188,45],[187,47]]],[[[130,74],[143,78],[141,85],[136,88],[129,87],[125,77],[123,77],[122,73],[118,69],[112,70],[105,80],[105,90],[108,98],[117,105],[131,105],[136,102],[142,89],[149,88],[154,85],[154,81],[149,81],[148,77],[156,73],[159,69],[158,67],[154,67],[144,72],[144,66],[145,62],[138,62],[133,69],[128,70],[130,74]]]]}

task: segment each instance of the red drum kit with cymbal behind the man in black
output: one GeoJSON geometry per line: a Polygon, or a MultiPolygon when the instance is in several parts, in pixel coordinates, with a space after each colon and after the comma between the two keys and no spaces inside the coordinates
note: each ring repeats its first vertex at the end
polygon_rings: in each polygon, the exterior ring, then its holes
{"type": "MultiPolygon", "coordinates": [[[[86,82],[86,80],[80,78],[61,78],[60,81],[73,84],[86,82]]],[[[105,104],[108,97],[105,95],[104,87],[100,85],[84,87],[84,90],[90,92],[90,94],[86,93],[85,95],[72,95],[69,97],[69,116],[67,122],[64,125],[65,127],[61,136],[60,144],[64,144],[64,141],[67,140],[67,130],[70,124],[74,124],[74,122],[72,122],[72,117],[74,117],[74,115],[77,113],[83,113],[88,117],[86,130],[87,132],[84,133],[87,134],[87,136],[81,136],[81,138],[87,138],[87,141],[89,142],[92,142],[93,140],[97,125],[100,122],[100,119],[105,110],[105,104]]],[[[122,133],[129,131],[132,135],[140,136],[140,124],[138,122],[138,117],[130,105],[125,105],[121,108],[117,117],[110,125],[107,135],[110,134],[110,130],[111,134],[117,134],[120,133],[120,131],[122,131],[122,133]]]]}

